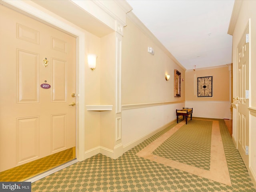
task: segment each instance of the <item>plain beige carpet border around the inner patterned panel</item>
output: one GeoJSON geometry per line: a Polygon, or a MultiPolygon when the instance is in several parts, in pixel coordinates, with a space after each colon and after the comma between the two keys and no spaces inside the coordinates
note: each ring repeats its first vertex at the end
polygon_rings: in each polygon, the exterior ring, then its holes
{"type": "MultiPolygon", "coordinates": [[[[194,118],[194,120],[202,120],[202,119],[194,118]]],[[[166,132],[165,134],[163,134],[162,136],[154,140],[151,144],[146,146],[136,155],[152,160],[154,162],[158,162],[160,164],[164,164],[166,166],[170,166],[185,172],[189,172],[189,173],[231,186],[230,176],[228,172],[228,165],[226,162],[226,156],[224,153],[224,147],[222,144],[222,138],[220,134],[219,122],[217,120],[208,120],[208,121],[212,121],[210,171],[152,154],[152,152],[156,148],[158,148],[158,146],[160,146],[166,139],[168,139],[172,134],[174,134],[180,127],[186,124],[185,120],[178,123],[168,132],[166,132]]]]}

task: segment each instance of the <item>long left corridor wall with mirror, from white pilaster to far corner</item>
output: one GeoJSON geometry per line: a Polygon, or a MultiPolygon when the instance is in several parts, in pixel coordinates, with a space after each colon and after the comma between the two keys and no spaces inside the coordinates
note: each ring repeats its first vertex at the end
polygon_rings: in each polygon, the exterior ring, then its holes
{"type": "Polygon", "coordinates": [[[176,64],[156,39],[129,18],[122,38],[122,144],[124,151],[148,138],[154,131],[176,120],[177,108],[185,106],[185,83],[181,97],[174,97],[176,64]],[[148,53],[154,49],[154,55],[148,53]],[[165,74],[170,75],[168,81],[165,74]]]}

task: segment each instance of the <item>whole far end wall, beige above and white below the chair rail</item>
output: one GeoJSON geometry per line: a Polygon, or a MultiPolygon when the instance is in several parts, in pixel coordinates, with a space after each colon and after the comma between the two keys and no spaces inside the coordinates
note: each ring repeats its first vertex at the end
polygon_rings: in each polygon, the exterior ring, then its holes
{"type": "Polygon", "coordinates": [[[232,119],[231,64],[186,71],[186,107],[194,117],[232,119]],[[213,97],[197,97],[197,78],[212,76],[213,97]],[[210,109],[210,110],[205,110],[210,109]]]}

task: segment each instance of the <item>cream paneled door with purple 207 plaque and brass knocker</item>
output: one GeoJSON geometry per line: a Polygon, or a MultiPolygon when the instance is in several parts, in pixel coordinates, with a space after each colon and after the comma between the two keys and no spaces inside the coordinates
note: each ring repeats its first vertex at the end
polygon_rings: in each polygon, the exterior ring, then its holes
{"type": "Polygon", "coordinates": [[[1,172],[76,146],[76,38],[2,5],[0,28],[1,172]]]}

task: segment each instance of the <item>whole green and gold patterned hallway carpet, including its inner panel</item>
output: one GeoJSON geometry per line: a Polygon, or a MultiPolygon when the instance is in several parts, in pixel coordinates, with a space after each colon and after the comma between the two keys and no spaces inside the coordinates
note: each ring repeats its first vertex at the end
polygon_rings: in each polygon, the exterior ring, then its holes
{"type": "Polygon", "coordinates": [[[38,180],[32,183],[32,192],[256,192],[224,120],[183,122],[168,126],[116,160],[98,154],[38,180]],[[216,122],[231,184],[213,180],[218,170],[210,172],[216,122]],[[152,144],[158,140],[160,145],[152,144]],[[145,151],[149,146],[154,148],[150,153],[145,151]],[[184,167],[192,169],[184,171],[184,167]],[[193,174],[194,169],[210,172],[213,179],[193,174]]]}

